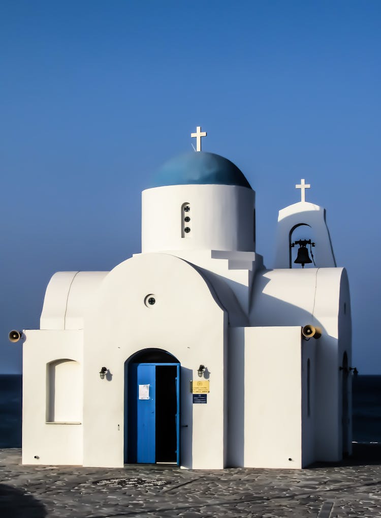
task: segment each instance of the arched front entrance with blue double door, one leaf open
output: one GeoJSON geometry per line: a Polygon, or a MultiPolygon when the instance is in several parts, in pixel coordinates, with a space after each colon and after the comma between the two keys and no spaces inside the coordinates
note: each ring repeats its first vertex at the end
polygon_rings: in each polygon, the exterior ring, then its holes
{"type": "Polygon", "coordinates": [[[124,462],[180,464],[180,363],[144,349],[124,364],[124,462]]]}

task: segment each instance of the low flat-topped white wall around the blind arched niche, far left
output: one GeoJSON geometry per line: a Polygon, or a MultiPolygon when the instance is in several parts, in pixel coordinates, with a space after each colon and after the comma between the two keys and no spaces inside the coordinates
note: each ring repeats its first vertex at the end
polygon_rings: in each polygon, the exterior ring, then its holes
{"type": "MultiPolygon", "coordinates": [[[[66,383],[68,394],[74,385],[77,387],[77,410],[82,410],[83,333],[74,330],[25,330],[24,333],[22,463],[81,465],[82,420],[78,419],[81,416],[77,412],[70,417],[70,420],[75,417],[79,423],[49,424],[47,407],[49,364],[60,359],[71,359],[78,362],[77,367],[69,368],[70,377],[62,378],[61,382],[66,383]],[[75,380],[71,377],[74,370],[75,380]]],[[[66,412],[67,408],[63,410],[66,412]]],[[[58,416],[60,419],[63,417],[58,416]]]]}

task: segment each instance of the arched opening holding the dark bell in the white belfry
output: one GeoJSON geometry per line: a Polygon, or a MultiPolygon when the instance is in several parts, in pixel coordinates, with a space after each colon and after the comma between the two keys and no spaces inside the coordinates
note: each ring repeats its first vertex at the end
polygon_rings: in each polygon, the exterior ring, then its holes
{"type": "Polygon", "coordinates": [[[311,225],[298,223],[289,233],[289,267],[315,268],[315,238],[311,225]]]}

